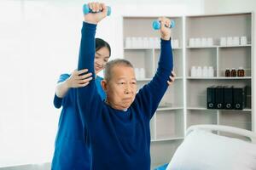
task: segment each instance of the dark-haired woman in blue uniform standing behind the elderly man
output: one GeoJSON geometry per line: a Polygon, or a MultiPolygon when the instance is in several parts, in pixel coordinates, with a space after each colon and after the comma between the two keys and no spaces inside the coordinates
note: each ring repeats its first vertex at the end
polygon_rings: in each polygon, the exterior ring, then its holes
{"type": "MultiPolygon", "coordinates": [[[[111,55],[108,42],[96,38],[95,71],[103,70],[111,55]]],[[[62,106],[58,133],[55,138],[55,153],[52,161],[53,170],[90,169],[90,151],[86,145],[84,128],[79,116],[76,89],[87,86],[92,79],[88,70],[73,71],[71,75],[62,74],[56,86],[54,105],[62,106]],[[83,73],[84,76],[79,76],[83,73]]],[[[101,86],[102,77],[96,76],[96,87],[102,100],[106,94],[101,86]]],[[[86,99],[84,99],[86,100],[86,99]]]]}

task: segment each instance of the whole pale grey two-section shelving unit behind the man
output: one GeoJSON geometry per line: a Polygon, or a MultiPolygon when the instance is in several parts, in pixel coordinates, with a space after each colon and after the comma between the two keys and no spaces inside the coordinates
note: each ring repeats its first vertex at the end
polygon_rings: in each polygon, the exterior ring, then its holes
{"type": "MultiPolygon", "coordinates": [[[[152,29],[155,17],[123,18],[124,56],[135,68],[144,68],[145,77],[137,79],[138,88],[151,81],[157,69],[160,48],[125,47],[126,37],[160,37],[152,29]]],[[[176,81],[167,89],[151,127],[152,168],[169,162],[182,143],[186,129],[195,124],[219,124],[253,129],[253,14],[216,14],[169,17],[175,20],[172,39],[179,46],[172,49],[176,81]],[[247,37],[247,45],[220,46],[220,37],[247,37]],[[191,37],[212,37],[213,44],[189,47],[191,37]],[[191,77],[195,66],[213,66],[214,77],[191,77]],[[245,77],[224,77],[226,68],[242,66],[245,77]],[[212,85],[248,86],[247,108],[237,110],[208,110],[207,87],[212,85]]],[[[230,136],[230,134],[224,133],[230,136]]]]}

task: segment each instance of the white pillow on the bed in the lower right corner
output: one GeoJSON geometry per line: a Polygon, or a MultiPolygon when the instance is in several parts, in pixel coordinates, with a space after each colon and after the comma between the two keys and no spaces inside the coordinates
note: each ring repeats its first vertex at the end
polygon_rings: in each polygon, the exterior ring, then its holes
{"type": "Polygon", "coordinates": [[[177,148],[166,170],[255,170],[256,144],[195,130],[177,148]]]}

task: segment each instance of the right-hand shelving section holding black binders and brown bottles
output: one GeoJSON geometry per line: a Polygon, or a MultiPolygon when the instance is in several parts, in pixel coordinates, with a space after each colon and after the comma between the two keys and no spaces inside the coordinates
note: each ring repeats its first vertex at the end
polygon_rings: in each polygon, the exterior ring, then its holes
{"type": "Polygon", "coordinates": [[[220,124],[252,130],[252,20],[251,13],[217,14],[185,17],[187,127],[194,124],[220,124]],[[247,45],[220,46],[220,37],[246,36],[247,45]],[[211,47],[189,47],[191,37],[212,37],[211,47]],[[190,77],[192,65],[213,65],[214,77],[190,77]],[[245,68],[245,77],[224,77],[226,68],[245,68]],[[248,86],[247,108],[236,110],[207,110],[207,87],[212,85],[248,86]],[[193,90],[190,90],[193,89],[193,90]]]}

